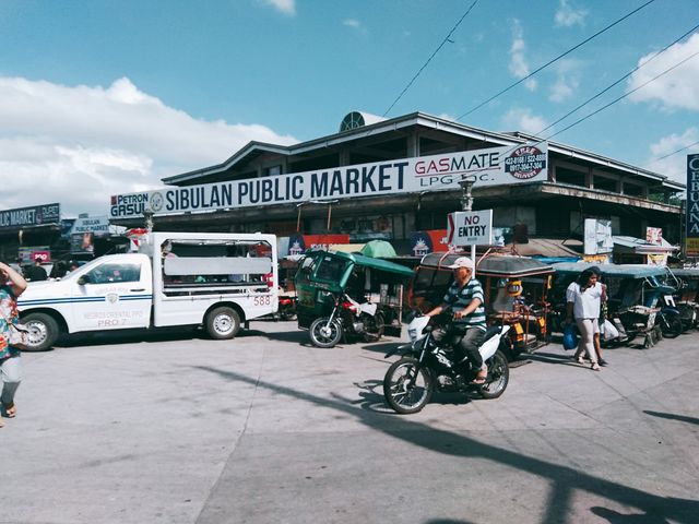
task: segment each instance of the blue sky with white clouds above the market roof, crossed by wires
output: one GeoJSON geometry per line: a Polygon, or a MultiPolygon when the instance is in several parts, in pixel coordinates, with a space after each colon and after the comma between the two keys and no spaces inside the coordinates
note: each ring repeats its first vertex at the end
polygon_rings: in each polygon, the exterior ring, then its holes
{"type": "MultiPolygon", "coordinates": [[[[0,0],[0,209],[100,214],[250,140],[381,116],[472,2],[0,0]]],[[[387,116],[455,119],[644,2],[478,0],[387,116]]],[[[535,133],[697,24],[696,0],[655,0],[460,121],[535,133]]],[[[577,118],[699,51],[694,34],[577,118]]],[[[699,146],[653,159],[699,141],[698,116],[699,56],[554,140],[683,180],[699,146]]]]}

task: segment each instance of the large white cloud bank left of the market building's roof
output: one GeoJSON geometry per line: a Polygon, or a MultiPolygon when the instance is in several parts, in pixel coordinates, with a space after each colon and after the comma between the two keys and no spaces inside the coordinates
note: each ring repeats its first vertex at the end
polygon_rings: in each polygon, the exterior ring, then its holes
{"type": "Polygon", "coordinates": [[[104,214],[109,196],[218,164],[251,140],[295,142],[260,124],[198,120],[122,78],[109,87],[0,76],[0,209],[61,203],[104,214]]]}

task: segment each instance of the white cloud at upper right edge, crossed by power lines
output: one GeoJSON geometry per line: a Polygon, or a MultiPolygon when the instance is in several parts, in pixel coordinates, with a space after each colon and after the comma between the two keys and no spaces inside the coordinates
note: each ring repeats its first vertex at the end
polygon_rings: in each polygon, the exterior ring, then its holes
{"type": "MultiPolygon", "coordinates": [[[[699,52],[699,33],[695,33],[684,44],[675,44],[652,62],[635,72],[628,82],[628,91],[637,88],[671,67],[699,52]]],[[[639,66],[648,62],[655,53],[645,55],[639,66]]],[[[633,102],[655,102],[664,109],[699,110],[699,56],[677,69],[664,74],[630,95],[633,102]]]]}

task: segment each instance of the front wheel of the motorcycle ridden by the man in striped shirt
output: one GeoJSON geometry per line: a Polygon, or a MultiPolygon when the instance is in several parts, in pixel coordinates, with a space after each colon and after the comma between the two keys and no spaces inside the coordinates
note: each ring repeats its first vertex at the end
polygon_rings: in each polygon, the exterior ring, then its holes
{"type": "Polygon", "coordinates": [[[402,415],[419,412],[433,396],[434,382],[427,368],[403,357],[391,365],[383,378],[383,396],[389,406],[402,415]]]}

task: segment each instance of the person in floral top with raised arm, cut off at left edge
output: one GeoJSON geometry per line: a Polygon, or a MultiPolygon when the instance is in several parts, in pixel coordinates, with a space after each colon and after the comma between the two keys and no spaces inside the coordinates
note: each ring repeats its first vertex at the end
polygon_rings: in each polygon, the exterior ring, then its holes
{"type": "MultiPolygon", "coordinates": [[[[14,418],[14,393],[22,381],[20,350],[9,344],[10,325],[16,323],[17,297],[26,289],[26,281],[20,273],[0,262],[0,402],[8,418],[14,418]]],[[[0,427],[4,422],[0,418],[0,427]]]]}

